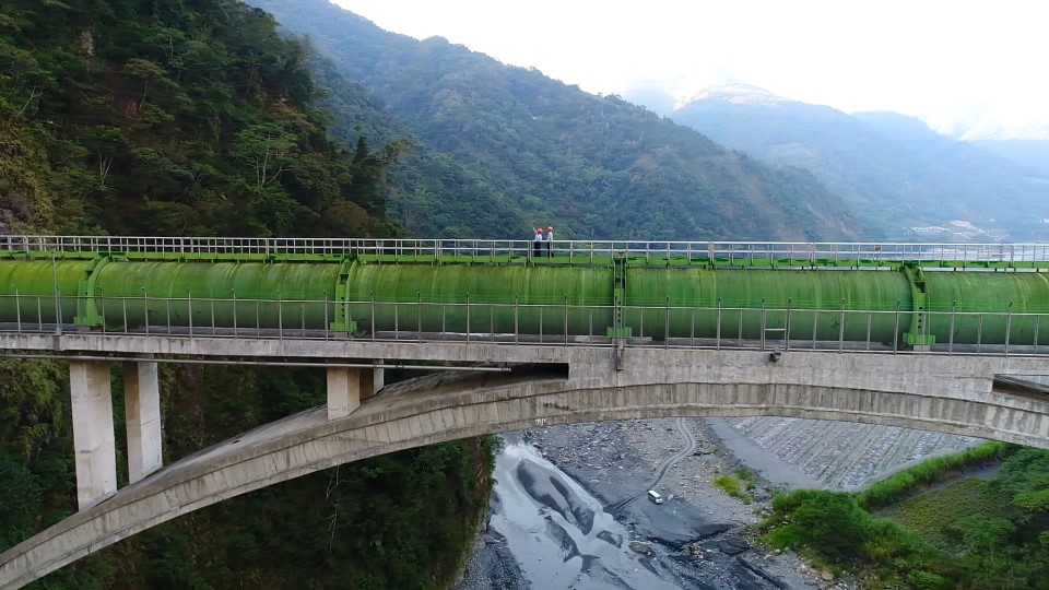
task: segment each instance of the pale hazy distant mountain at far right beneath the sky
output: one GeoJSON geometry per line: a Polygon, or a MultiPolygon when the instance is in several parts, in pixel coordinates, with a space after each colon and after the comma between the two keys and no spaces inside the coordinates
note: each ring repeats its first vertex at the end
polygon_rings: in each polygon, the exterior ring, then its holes
{"type": "Polygon", "coordinates": [[[834,108],[732,85],[704,91],[671,117],[777,165],[800,166],[894,239],[1049,237],[1049,174],[941,135],[895,113],[834,108]]]}

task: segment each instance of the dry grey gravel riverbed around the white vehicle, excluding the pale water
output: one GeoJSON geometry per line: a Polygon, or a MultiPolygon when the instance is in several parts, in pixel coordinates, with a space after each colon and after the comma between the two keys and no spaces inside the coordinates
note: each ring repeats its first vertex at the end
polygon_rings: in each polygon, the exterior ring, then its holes
{"type": "MultiPolygon", "coordinates": [[[[922,458],[979,440],[851,423],[797,418],[660,418],[508,433],[530,442],[599,499],[628,531],[646,567],[683,589],[852,589],[791,552],[759,547],[752,524],[777,488],[854,489],[922,458]],[[757,476],[751,504],[714,480],[741,468],[757,476]],[[647,499],[656,489],[662,505],[647,499]],[[673,578],[673,579],[670,579],[673,578]]],[[[493,495],[492,514],[502,514],[493,495]]],[[[527,557],[522,557],[527,558],[527,557]]],[[[609,583],[602,588],[630,588],[609,583]]],[[[486,520],[455,590],[546,590],[527,579],[518,556],[486,520]]],[[[566,586],[565,588],[597,588],[566,586]]]]}

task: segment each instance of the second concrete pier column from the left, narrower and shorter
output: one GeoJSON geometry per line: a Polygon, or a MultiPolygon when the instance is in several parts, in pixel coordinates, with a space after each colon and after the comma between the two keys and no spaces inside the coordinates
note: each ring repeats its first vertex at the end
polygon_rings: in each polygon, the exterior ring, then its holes
{"type": "Polygon", "coordinates": [[[123,408],[128,423],[128,480],[134,483],[161,469],[164,461],[155,362],[123,364],[123,408]]]}

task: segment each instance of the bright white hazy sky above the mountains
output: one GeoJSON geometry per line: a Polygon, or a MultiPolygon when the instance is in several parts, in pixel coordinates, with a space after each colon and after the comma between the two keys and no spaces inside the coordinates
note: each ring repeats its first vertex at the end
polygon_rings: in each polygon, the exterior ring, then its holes
{"type": "Polygon", "coordinates": [[[738,80],[780,96],[897,110],[940,129],[1049,122],[1039,0],[334,0],[387,31],[439,35],[582,90],[738,80]]]}

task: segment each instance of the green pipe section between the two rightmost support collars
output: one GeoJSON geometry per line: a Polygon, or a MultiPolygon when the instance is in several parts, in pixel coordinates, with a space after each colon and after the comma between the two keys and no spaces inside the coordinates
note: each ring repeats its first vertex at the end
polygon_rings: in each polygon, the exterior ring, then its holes
{"type": "Polygon", "coordinates": [[[761,339],[764,326],[765,338],[781,340],[789,323],[798,340],[867,341],[870,332],[892,343],[911,309],[907,279],[893,271],[633,269],[627,285],[626,323],[657,339],[761,339]]]}

